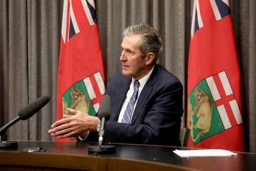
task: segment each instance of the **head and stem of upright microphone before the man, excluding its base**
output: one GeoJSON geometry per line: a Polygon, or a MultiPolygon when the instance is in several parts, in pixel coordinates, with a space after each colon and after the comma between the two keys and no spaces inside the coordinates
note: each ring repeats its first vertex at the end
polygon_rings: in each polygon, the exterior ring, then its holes
{"type": "Polygon", "coordinates": [[[98,117],[101,120],[100,130],[99,130],[99,146],[103,145],[104,141],[104,130],[105,122],[109,120],[111,112],[111,98],[109,95],[105,95],[99,107],[98,117]]]}

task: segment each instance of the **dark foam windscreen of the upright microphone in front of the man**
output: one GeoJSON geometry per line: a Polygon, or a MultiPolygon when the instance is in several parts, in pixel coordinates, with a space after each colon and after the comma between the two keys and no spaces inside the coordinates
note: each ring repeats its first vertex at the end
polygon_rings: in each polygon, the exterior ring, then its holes
{"type": "Polygon", "coordinates": [[[105,95],[103,96],[99,106],[98,117],[100,119],[102,117],[105,117],[105,120],[107,121],[110,118],[110,112],[111,112],[111,98],[109,95],[105,95]]]}

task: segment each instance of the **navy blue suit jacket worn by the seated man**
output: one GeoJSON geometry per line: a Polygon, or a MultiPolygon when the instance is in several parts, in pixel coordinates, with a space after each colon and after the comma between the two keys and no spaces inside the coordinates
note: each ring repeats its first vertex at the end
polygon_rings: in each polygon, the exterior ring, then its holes
{"type": "MultiPolygon", "coordinates": [[[[117,74],[108,80],[111,116],[105,123],[105,142],[180,146],[183,88],[180,80],[156,64],[137,99],[131,124],[118,123],[132,78],[117,74]]],[[[98,141],[90,132],[86,141],[98,141]]]]}

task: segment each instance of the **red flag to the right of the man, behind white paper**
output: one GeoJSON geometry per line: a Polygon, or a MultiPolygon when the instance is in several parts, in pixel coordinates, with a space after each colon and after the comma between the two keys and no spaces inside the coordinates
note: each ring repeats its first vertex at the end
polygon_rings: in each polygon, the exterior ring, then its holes
{"type": "Polygon", "coordinates": [[[187,87],[188,146],[244,151],[240,69],[228,0],[195,0],[187,87]]]}

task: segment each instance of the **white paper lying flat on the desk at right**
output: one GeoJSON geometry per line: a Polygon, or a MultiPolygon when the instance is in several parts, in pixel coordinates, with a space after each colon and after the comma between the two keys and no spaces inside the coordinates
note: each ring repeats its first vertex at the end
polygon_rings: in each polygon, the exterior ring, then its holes
{"type": "Polygon", "coordinates": [[[237,155],[224,149],[196,149],[196,150],[179,150],[173,151],[180,157],[199,157],[199,156],[232,156],[237,155]]]}

